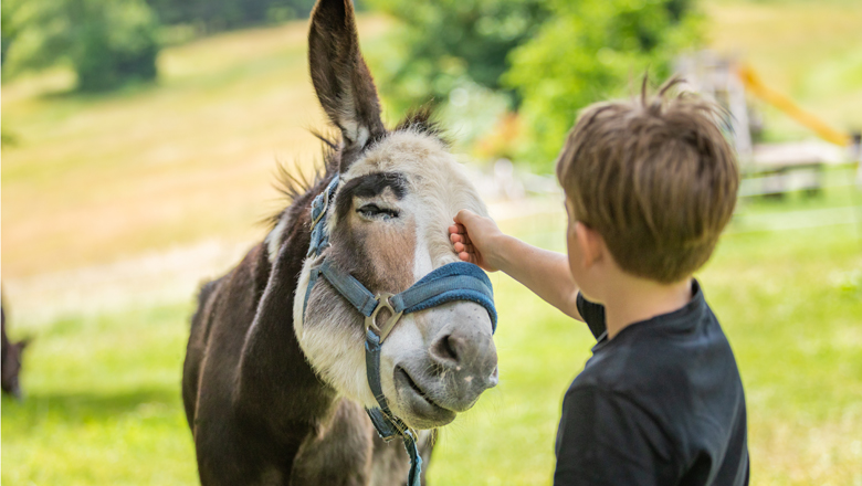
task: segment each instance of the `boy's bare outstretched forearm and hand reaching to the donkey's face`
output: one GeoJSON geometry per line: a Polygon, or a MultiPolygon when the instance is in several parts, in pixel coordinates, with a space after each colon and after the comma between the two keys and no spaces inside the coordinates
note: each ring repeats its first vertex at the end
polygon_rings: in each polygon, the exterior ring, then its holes
{"type": "Polygon", "coordinates": [[[584,320],[578,311],[578,286],[571,278],[568,257],[537,249],[504,234],[490,218],[463,210],[449,228],[459,257],[488,272],[501,270],[568,316],[584,320]]]}

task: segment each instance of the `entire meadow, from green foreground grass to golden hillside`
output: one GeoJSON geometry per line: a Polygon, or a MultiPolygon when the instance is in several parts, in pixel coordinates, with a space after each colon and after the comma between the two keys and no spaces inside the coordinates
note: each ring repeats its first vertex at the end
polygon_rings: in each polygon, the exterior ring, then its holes
{"type": "MultiPolygon", "coordinates": [[[[862,66],[862,38],[842,25],[862,24],[862,6],[818,6],[709,2],[711,43],[748,46],[776,87],[839,127],[860,126],[862,112],[851,107],[862,84],[844,71],[862,66]],[[776,32],[810,15],[819,15],[816,47],[784,52],[789,38],[776,32]],[[768,29],[750,28],[765,17],[775,19],[768,29]],[[806,62],[823,70],[800,74],[806,62]]],[[[360,19],[364,49],[385,42],[388,25],[360,19]]],[[[4,84],[3,134],[15,140],[2,149],[4,287],[23,298],[21,283],[40,275],[207,239],[262,239],[257,221],[278,204],[275,161],[307,173],[319,154],[307,131],[323,117],[304,42],[299,22],[170,47],[157,85],[109,96],[69,93],[63,68],[4,84]]],[[[799,133],[776,123],[776,138],[799,133]]],[[[862,193],[852,178],[832,169],[819,196],[740,201],[696,275],[743,376],[753,484],[862,486],[862,193]]],[[[557,203],[503,226],[561,251],[557,203]]],[[[501,383],[441,431],[430,479],[549,485],[563,393],[593,339],[505,275],[492,282],[501,383]]],[[[24,357],[25,400],[2,398],[3,484],[197,483],[179,393],[192,293],[48,321],[10,299],[12,338],[35,339],[24,357]]]]}

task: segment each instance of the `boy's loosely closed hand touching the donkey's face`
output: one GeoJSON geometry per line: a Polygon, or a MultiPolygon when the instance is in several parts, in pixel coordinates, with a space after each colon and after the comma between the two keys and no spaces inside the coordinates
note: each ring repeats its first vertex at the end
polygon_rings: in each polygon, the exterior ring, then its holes
{"type": "Polygon", "coordinates": [[[494,253],[494,240],[503,235],[494,220],[483,218],[473,211],[461,210],[455,215],[455,224],[449,226],[449,240],[464,262],[479,265],[487,272],[500,270],[491,261],[494,253]]]}

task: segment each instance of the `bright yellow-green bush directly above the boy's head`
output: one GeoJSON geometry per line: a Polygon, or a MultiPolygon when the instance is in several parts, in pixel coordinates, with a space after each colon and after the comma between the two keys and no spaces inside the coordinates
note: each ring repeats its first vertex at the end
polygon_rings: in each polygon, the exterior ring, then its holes
{"type": "Polygon", "coordinates": [[[523,158],[551,169],[578,109],[633,91],[648,70],[666,77],[673,57],[700,40],[692,1],[549,0],[548,21],[513,51],[504,77],[523,97],[523,158]]]}

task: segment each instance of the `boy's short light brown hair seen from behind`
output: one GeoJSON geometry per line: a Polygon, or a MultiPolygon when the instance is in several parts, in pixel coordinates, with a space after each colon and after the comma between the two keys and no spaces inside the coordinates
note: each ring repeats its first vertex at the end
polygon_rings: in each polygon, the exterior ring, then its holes
{"type": "Polygon", "coordinates": [[[692,94],[587,107],[569,133],[557,177],[574,219],[596,230],[620,267],[661,283],[709,258],[739,187],[722,110],[692,94]]]}

